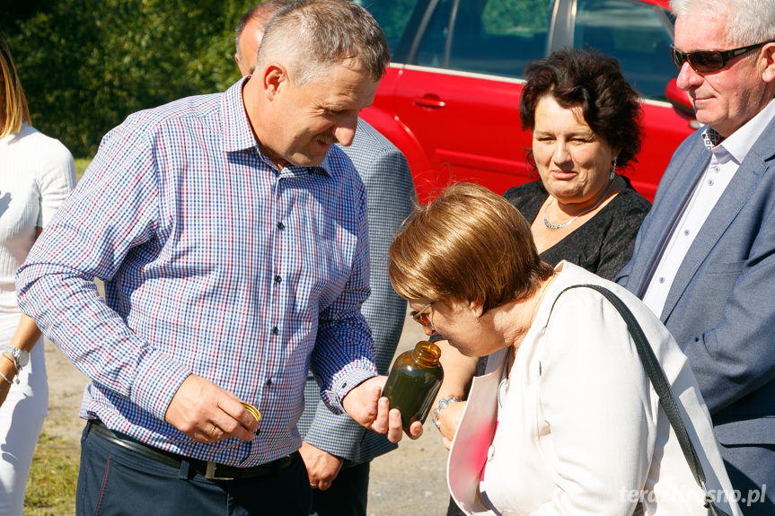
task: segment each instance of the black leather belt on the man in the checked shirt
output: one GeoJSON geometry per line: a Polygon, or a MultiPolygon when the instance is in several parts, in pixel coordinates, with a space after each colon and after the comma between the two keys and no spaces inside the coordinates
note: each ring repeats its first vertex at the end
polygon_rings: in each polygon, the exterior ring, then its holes
{"type": "Polygon", "coordinates": [[[142,455],[146,459],[161,462],[172,468],[181,469],[182,466],[188,464],[189,474],[203,475],[209,480],[238,480],[244,478],[269,477],[270,475],[277,473],[277,471],[282,471],[283,469],[290,467],[296,459],[301,459],[299,452],[294,451],[290,455],[286,455],[285,457],[265,464],[260,464],[259,466],[253,466],[252,468],[236,468],[234,466],[226,466],[225,464],[217,464],[216,462],[208,460],[190,459],[189,457],[172,453],[172,451],[160,450],[153,446],[148,446],[128,435],[110,430],[110,428],[105,426],[99,419],[92,419],[89,422],[89,432],[101,437],[105,441],[112,442],[126,450],[137,453],[137,455],[142,455]]]}

